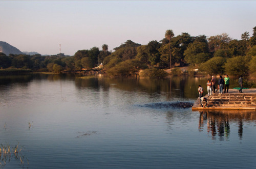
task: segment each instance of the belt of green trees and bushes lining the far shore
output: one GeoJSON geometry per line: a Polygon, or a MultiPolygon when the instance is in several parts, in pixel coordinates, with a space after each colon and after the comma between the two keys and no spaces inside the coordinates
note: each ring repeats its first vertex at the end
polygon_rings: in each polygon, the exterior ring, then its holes
{"type": "MultiPolygon", "coordinates": [[[[78,50],[73,56],[63,53],[57,55],[26,55],[0,53],[0,68],[3,74],[20,71],[79,71],[90,70],[99,64],[104,65],[104,72],[110,76],[138,75],[141,69],[144,75],[155,73],[156,70],[172,69],[172,74],[179,75],[179,67],[189,66],[209,75],[229,74],[256,75],[256,26],[252,36],[248,32],[241,35],[241,40],[232,39],[228,34],[206,37],[205,35],[190,36],[181,33],[175,36],[172,30],[163,33],[160,41],[152,40],[145,45],[127,40],[123,44],[108,50],[103,44],[102,49],[78,50]],[[7,68],[15,68],[13,70],[7,68]],[[152,70],[147,70],[152,69],[152,70]]],[[[158,73],[161,77],[161,71],[158,73]]],[[[142,75],[143,75],[142,74],[142,75]]],[[[193,73],[188,73],[193,74],[193,73]]],[[[152,75],[152,77],[155,75],[152,75]]]]}

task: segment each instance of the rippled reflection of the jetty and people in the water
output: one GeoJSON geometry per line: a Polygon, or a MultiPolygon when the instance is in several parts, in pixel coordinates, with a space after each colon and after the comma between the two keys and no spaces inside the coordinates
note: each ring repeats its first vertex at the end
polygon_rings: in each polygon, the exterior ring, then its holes
{"type": "Polygon", "coordinates": [[[243,138],[243,126],[245,123],[253,124],[256,122],[255,111],[199,111],[198,129],[202,132],[207,126],[207,133],[212,139],[229,140],[230,124],[236,124],[239,139],[243,138]]]}

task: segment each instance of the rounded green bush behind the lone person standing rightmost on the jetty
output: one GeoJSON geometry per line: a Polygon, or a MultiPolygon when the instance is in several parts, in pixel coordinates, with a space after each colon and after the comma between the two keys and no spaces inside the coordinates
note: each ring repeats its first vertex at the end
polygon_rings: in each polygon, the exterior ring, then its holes
{"type": "Polygon", "coordinates": [[[239,76],[247,75],[249,72],[249,62],[251,57],[238,56],[227,59],[224,65],[225,72],[230,75],[239,76]]]}

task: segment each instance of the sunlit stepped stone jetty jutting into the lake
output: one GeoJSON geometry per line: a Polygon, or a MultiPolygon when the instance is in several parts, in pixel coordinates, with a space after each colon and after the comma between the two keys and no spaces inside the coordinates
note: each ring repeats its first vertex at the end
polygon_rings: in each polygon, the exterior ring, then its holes
{"type": "MultiPolygon", "coordinates": [[[[192,110],[255,110],[256,89],[244,89],[239,93],[237,89],[229,89],[228,93],[212,93],[205,97],[208,100],[207,107],[202,107],[200,99],[194,103],[192,110]]],[[[219,92],[219,91],[218,91],[219,92]]],[[[204,92],[205,93],[205,92],[204,92]]],[[[206,91],[207,93],[207,91],[206,91]]]]}

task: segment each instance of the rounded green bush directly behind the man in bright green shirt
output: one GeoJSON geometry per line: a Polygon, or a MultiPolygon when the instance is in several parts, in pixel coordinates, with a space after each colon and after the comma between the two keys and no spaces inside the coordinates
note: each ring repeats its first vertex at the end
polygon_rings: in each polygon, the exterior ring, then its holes
{"type": "Polygon", "coordinates": [[[223,65],[225,62],[226,59],[223,57],[214,57],[208,60],[207,62],[202,63],[199,67],[199,70],[204,71],[209,75],[223,74],[223,65]]]}

